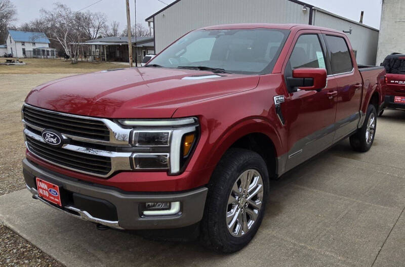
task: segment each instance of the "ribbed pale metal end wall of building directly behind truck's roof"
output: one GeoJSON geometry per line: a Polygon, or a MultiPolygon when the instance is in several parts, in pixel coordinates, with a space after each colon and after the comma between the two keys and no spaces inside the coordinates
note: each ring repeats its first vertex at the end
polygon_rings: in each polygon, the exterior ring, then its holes
{"type": "Polygon", "coordinates": [[[308,24],[309,8],[287,0],[182,0],[155,16],[156,53],[186,32],[231,23],[308,24]]]}

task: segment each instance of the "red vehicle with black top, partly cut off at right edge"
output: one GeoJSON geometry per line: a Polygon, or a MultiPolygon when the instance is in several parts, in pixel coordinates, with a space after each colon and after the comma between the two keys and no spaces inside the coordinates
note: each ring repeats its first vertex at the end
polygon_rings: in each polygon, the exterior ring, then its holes
{"type": "Polygon", "coordinates": [[[381,66],[384,66],[386,92],[385,99],[380,111],[384,109],[405,110],[405,55],[393,53],[388,55],[381,66]]]}

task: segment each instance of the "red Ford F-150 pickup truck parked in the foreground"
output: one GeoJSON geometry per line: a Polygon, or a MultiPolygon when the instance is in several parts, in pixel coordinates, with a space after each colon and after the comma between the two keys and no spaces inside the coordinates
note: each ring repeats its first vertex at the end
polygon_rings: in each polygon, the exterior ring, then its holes
{"type": "Polygon", "coordinates": [[[143,68],[34,88],[22,107],[25,182],[73,216],[118,229],[196,227],[209,247],[233,252],[258,231],[270,179],[347,137],[370,149],[384,75],[359,69],[336,30],[194,30],[143,68]]]}

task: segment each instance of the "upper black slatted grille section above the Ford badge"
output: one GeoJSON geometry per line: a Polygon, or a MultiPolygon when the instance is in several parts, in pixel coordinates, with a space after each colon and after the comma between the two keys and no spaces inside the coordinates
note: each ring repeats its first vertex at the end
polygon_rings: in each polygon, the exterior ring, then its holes
{"type": "Polygon", "coordinates": [[[110,141],[110,131],[101,120],[69,116],[29,106],[24,106],[22,111],[24,121],[33,126],[52,128],[65,135],[110,141]]]}

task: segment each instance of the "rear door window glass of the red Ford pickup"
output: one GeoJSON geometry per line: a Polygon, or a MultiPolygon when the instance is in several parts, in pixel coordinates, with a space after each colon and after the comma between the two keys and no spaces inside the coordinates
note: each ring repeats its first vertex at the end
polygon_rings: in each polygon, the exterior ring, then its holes
{"type": "Polygon", "coordinates": [[[353,65],[347,43],[343,37],[326,35],[333,74],[351,71],[353,65]]]}

